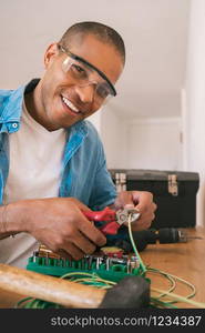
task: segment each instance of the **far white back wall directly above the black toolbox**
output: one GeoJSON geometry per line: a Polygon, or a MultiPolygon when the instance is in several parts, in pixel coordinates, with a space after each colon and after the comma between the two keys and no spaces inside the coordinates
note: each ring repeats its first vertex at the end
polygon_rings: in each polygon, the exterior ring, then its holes
{"type": "Polygon", "coordinates": [[[130,169],[181,170],[181,120],[139,119],[129,124],[130,169]]]}

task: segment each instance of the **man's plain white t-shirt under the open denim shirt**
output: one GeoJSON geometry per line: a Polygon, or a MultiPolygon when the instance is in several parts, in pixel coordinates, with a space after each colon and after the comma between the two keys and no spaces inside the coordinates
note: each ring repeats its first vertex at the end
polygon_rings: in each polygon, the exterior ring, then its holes
{"type": "MultiPolygon", "coordinates": [[[[49,132],[40,125],[23,103],[20,130],[9,135],[10,168],[3,203],[58,196],[65,135],[63,129],[49,132]]],[[[25,268],[38,245],[28,233],[0,240],[0,262],[25,268]]]]}

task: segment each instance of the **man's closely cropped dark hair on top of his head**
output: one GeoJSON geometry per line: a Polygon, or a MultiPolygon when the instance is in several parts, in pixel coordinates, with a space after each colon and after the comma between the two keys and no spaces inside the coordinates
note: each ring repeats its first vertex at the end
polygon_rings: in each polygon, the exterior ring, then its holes
{"type": "Polygon", "coordinates": [[[81,33],[82,36],[93,34],[99,40],[104,43],[112,44],[116,51],[120,53],[123,63],[125,62],[125,46],[122,37],[119,32],[116,32],[113,28],[105,26],[100,22],[93,21],[85,21],[85,22],[78,22],[71,26],[62,36],[61,40],[59,41],[60,44],[64,44],[68,47],[70,40],[81,33]]]}

